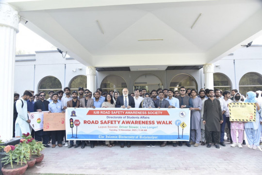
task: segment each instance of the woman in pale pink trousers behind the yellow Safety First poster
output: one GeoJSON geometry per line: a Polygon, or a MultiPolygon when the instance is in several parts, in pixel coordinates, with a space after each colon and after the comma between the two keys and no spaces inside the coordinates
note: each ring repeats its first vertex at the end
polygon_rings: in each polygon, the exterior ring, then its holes
{"type": "MultiPolygon", "coordinates": [[[[241,93],[237,92],[234,95],[233,102],[232,103],[239,103],[241,102],[241,93]]],[[[230,122],[230,129],[231,129],[231,137],[233,143],[231,144],[231,147],[238,146],[239,148],[243,148],[241,145],[243,141],[243,133],[244,133],[244,122],[241,121],[231,121],[230,122]],[[236,141],[236,132],[238,131],[238,143],[236,141]]]]}

